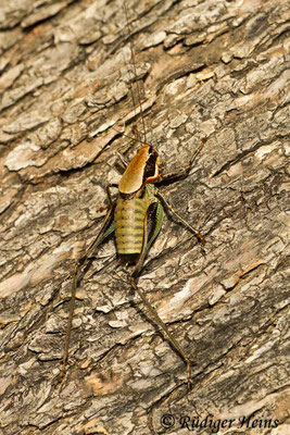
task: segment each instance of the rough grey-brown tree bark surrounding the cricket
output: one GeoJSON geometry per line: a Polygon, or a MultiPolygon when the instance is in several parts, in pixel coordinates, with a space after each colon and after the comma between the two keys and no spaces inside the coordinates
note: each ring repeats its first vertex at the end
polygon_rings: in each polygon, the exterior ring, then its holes
{"type": "Polygon", "coordinates": [[[129,38],[122,1],[1,0],[0,434],[205,434],[210,418],[192,421],[209,414],[236,419],[223,434],[289,434],[289,2],[127,9],[163,172],[206,139],[189,175],[162,188],[204,250],[166,220],[139,282],[194,361],[193,388],[126,273],[97,273],[112,241],[78,289],[55,386],[75,261],[118,181],[117,151],[139,147],[125,136],[140,122],[129,38]]]}

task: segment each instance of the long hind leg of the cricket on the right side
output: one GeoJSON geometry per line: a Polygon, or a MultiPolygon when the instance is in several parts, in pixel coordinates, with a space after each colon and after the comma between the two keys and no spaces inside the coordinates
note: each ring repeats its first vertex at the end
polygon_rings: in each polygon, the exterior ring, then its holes
{"type": "Polygon", "coordinates": [[[152,245],[153,240],[155,239],[155,237],[157,236],[161,225],[162,225],[162,220],[163,220],[163,208],[161,206],[161,203],[157,201],[151,206],[155,206],[155,214],[157,215],[156,222],[155,222],[155,227],[152,228],[151,235],[149,236],[149,225],[148,225],[148,216],[150,213],[150,209],[147,212],[146,215],[146,220],[144,220],[144,233],[143,233],[143,246],[142,246],[142,251],[140,253],[140,258],[136,264],[136,268],[131,274],[130,277],[130,284],[133,286],[133,288],[135,289],[135,291],[139,295],[139,297],[141,298],[143,304],[147,307],[147,309],[149,310],[150,314],[152,315],[153,320],[155,321],[155,323],[160,326],[165,339],[167,338],[168,341],[171,343],[171,345],[173,346],[173,348],[177,351],[177,353],[181,357],[181,359],[185,361],[185,363],[187,364],[187,387],[188,390],[191,389],[191,361],[190,359],[187,357],[186,352],[182,350],[181,346],[179,345],[179,343],[174,338],[174,336],[171,334],[171,332],[168,331],[166,324],[161,320],[161,318],[159,316],[156,310],[154,309],[154,307],[152,307],[152,304],[149,302],[149,300],[147,299],[146,295],[143,294],[143,291],[138,287],[138,277],[139,277],[139,273],[141,271],[144,258],[147,256],[147,252],[150,248],[150,246],[152,245]]]}

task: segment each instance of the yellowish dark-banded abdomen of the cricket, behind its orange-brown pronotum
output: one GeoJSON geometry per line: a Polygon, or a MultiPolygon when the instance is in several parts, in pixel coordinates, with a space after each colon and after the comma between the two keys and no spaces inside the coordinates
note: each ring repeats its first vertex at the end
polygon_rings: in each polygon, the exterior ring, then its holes
{"type": "Polygon", "coordinates": [[[123,199],[118,197],[115,209],[115,237],[119,254],[141,252],[148,206],[149,202],[144,198],[123,199]]]}

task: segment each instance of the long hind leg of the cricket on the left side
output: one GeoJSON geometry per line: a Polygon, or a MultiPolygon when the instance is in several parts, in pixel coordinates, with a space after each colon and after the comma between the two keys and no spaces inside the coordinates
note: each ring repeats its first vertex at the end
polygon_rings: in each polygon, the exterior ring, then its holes
{"type": "Polygon", "coordinates": [[[114,223],[114,211],[115,211],[115,202],[113,202],[108,211],[101,229],[92,241],[92,244],[87,249],[85,256],[76,263],[73,284],[72,284],[72,294],[71,294],[71,302],[70,302],[70,313],[65,333],[65,340],[64,340],[64,352],[62,359],[62,368],[61,373],[58,378],[58,383],[61,383],[65,375],[67,359],[68,359],[68,349],[70,349],[70,339],[72,334],[72,325],[73,325],[73,316],[74,316],[74,309],[75,309],[75,300],[76,300],[76,289],[78,287],[79,281],[81,279],[84,273],[88,269],[90,262],[92,261],[92,256],[96,253],[96,249],[110,236],[113,234],[115,229],[114,223]]]}

